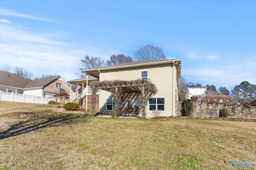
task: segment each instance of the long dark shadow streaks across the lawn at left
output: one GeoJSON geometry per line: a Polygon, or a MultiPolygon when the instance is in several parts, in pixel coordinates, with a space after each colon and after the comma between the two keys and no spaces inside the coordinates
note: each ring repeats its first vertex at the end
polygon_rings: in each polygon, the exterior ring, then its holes
{"type": "Polygon", "coordinates": [[[37,129],[42,129],[45,127],[70,125],[75,123],[75,118],[77,118],[77,115],[67,114],[55,117],[27,119],[26,121],[20,121],[19,123],[12,125],[9,129],[2,132],[0,131],[0,140],[35,131],[37,129]]]}

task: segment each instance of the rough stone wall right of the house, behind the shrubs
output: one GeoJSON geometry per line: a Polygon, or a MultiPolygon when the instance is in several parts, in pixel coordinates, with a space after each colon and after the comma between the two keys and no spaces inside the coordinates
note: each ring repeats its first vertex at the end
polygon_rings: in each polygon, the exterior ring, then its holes
{"type": "MultiPolygon", "coordinates": [[[[211,118],[220,117],[220,110],[226,108],[229,118],[246,118],[256,119],[256,107],[244,105],[225,105],[223,103],[206,103],[206,102],[193,102],[194,109],[190,116],[196,118],[211,118]]],[[[182,102],[178,101],[175,105],[176,117],[183,116],[182,102]]]]}

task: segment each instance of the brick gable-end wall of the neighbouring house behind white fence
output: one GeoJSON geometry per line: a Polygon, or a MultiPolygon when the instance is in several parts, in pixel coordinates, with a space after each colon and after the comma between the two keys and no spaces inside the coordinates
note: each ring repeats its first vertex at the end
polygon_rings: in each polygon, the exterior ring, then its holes
{"type": "Polygon", "coordinates": [[[70,96],[70,87],[63,80],[54,80],[49,84],[46,84],[43,90],[43,96],[44,96],[44,92],[60,94],[60,89],[66,90],[66,93],[68,94],[68,96],[70,96]],[[56,87],[56,83],[60,83],[61,88],[56,87]]]}

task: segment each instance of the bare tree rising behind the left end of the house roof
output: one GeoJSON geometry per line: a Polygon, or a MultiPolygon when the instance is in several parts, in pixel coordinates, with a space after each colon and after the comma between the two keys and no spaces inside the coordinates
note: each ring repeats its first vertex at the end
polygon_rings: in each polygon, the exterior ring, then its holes
{"type": "MultiPolygon", "coordinates": [[[[88,55],[86,55],[84,59],[81,60],[81,62],[83,67],[79,68],[79,70],[90,70],[104,66],[104,60],[101,60],[99,57],[90,57],[88,55]]],[[[83,78],[85,76],[83,72],[76,73],[76,75],[79,78],[83,78]]]]}

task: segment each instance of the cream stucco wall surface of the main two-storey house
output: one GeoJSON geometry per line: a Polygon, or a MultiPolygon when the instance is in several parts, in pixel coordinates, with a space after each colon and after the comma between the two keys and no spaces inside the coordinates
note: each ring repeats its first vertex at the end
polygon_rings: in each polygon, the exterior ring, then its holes
{"type": "MultiPolygon", "coordinates": [[[[173,98],[175,95],[176,83],[176,68],[172,64],[161,64],[155,66],[142,66],[135,68],[126,68],[118,70],[101,71],[100,81],[104,80],[136,80],[141,78],[141,72],[148,71],[148,79],[150,79],[157,87],[158,92],[151,97],[165,98],[165,108],[161,111],[161,116],[171,116],[173,113],[173,98]],[[174,92],[172,92],[172,78],[174,75],[174,92]]],[[[111,98],[111,93],[101,90],[100,92],[100,107],[106,107],[106,99],[111,98]]],[[[175,98],[174,98],[175,99],[175,98]]],[[[174,101],[175,102],[175,101],[174,101]]],[[[174,103],[175,108],[175,103],[174,103]]],[[[147,108],[147,117],[152,117],[149,108],[147,108]]]]}

